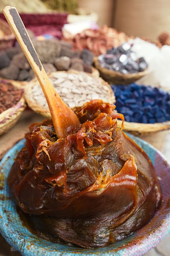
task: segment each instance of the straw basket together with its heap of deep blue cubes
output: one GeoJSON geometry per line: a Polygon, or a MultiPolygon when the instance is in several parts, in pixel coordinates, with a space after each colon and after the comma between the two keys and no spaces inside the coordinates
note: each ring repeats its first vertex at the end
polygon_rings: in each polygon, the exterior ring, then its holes
{"type": "MultiPolygon", "coordinates": [[[[133,134],[170,129],[170,94],[151,86],[112,85],[116,110],[124,114],[124,128],[133,134]]],[[[120,127],[121,123],[118,121],[120,127]]]]}

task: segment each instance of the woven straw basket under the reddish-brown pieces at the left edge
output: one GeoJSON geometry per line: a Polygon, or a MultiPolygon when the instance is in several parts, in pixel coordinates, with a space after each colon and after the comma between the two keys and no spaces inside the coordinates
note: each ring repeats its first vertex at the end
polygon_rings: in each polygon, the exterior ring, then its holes
{"type": "MultiPolygon", "coordinates": [[[[16,86],[16,84],[13,85],[16,86]]],[[[17,87],[19,88],[19,86],[17,87]]],[[[4,112],[0,114],[0,135],[6,133],[10,128],[12,128],[15,125],[15,123],[17,123],[19,117],[21,116],[25,108],[26,103],[23,95],[16,105],[9,109],[6,109],[4,112]]]]}

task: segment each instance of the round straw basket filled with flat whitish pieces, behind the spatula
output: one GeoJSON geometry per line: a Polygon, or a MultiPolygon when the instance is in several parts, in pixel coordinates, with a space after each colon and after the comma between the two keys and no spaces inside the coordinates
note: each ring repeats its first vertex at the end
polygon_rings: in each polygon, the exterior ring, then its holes
{"type": "MultiPolygon", "coordinates": [[[[57,71],[49,74],[55,90],[70,107],[81,106],[93,99],[115,103],[115,96],[109,84],[102,78],[93,78],[84,72],[57,71]]],[[[35,112],[50,117],[50,111],[37,79],[30,81],[25,88],[28,106],[35,112]]]]}

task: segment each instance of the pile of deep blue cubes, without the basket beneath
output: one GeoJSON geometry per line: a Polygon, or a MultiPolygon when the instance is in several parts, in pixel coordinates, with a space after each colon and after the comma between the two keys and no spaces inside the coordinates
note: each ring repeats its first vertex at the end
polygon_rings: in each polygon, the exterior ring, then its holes
{"type": "Polygon", "coordinates": [[[170,94],[159,88],[135,83],[111,85],[116,97],[116,110],[125,121],[157,123],[170,121],[170,94]]]}

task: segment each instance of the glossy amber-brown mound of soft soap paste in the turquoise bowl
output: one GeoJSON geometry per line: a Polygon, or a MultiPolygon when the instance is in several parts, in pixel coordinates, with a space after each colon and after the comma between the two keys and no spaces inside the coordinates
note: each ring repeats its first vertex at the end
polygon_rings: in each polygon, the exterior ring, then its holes
{"type": "Polygon", "coordinates": [[[57,140],[51,120],[33,124],[8,183],[42,237],[107,246],[147,224],[161,199],[146,153],[116,128],[115,106],[93,100],[57,140]],[[88,120],[88,121],[87,121],[88,120]]]}

